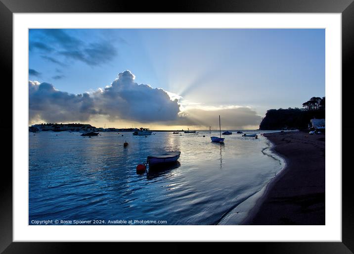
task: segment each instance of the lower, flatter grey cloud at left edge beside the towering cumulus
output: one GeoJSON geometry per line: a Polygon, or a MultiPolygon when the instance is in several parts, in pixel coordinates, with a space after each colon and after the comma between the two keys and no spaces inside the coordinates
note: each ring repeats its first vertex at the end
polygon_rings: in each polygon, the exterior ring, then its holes
{"type": "Polygon", "coordinates": [[[88,121],[98,112],[88,94],[72,95],[56,90],[53,85],[29,81],[29,120],[46,122],[88,121]]]}

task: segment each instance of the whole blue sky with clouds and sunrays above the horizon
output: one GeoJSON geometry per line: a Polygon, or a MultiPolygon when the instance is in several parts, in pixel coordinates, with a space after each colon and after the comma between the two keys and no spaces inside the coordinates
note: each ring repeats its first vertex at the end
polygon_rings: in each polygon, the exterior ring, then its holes
{"type": "Polygon", "coordinates": [[[325,96],[324,29],[30,29],[29,124],[258,129],[325,96]]]}

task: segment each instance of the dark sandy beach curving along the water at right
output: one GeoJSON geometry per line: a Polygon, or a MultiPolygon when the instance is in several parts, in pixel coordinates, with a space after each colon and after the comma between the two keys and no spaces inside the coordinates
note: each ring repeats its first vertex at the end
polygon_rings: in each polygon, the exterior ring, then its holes
{"type": "Polygon", "coordinates": [[[267,186],[245,225],[325,224],[325,135],[265,134],[286,167],[267,186]]]}

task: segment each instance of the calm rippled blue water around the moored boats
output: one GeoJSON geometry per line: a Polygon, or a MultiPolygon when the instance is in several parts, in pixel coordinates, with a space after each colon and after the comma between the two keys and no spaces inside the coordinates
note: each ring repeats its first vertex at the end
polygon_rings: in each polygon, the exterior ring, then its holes
{"type": "Polygon", "coordinates": [[[156,132],[148,137],[103,132],[92,138],[78,132],[30,133],[29,224],[238,224],[284,166],[269,151],[267,139],[259,131],[251,133],[259,139],[234,132],[225,136],[224,145],[211,143],[210,136],[219,135],[213,131],[182,136],[156,132]],[[136,165],[147,155],[166,151],[180,151],[179,163],[136,174],[136,165]]]}

